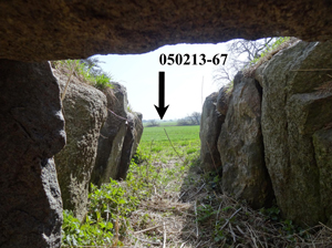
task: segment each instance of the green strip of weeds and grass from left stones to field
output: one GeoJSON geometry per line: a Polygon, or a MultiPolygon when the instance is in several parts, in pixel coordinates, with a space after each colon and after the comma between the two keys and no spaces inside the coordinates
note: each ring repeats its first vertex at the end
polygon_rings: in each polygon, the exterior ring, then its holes
{"type": "Polygon", "coordinates": [[[128,235],[134,229],[145,228],[154,221],[151,214],[137,217],[133,213],[149,202],[152,196],[165,192],[167,186],[169,192],[174,188],[179,192],[180,184],[174,187],[169,184],[184,176],[191,161],[197,161],[199,151],[199,126],[172,126],[166,130],[184,162],[175,158],[177,155],[163,127],[145,128],[127,179],[121,183],[111,179],[110,184],[101,187],[92,185],[89,211],[82,223],[72,213],[64,211],[63,247],[122,246],[125,240],[134,239],[128,235]],[[160,162],[168,163],[168,166],[156,166],[160,162]]]}

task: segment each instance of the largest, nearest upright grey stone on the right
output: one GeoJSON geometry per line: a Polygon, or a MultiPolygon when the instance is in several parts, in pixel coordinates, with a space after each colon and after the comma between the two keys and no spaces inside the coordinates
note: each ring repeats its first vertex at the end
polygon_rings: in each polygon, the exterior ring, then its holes
{"type": "Polygon", "coordinates": [[[331,81],[326,72],[297,70],[332,68],[331,49],[331,42],[298,42],[260,70],[266,164],[283,216],[303,226],[326,221],[331,213],[331,189],[321,186],[329,176],[312,140],[332,122],[332,93],[315,91],[331,81]]]}

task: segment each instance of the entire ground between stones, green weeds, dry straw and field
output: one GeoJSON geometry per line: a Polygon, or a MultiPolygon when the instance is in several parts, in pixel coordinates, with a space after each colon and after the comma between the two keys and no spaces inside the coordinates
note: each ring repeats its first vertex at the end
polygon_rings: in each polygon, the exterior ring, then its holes
{"type": "Polygon", "coordinates": [[[276,204],[253,210],[224,195],[199,146],[199,126],[146,127],[127,179],[92,186],[82,223],[64,211],[63,247],[329,247],[323,225],[301,229],[276,204]]]}

